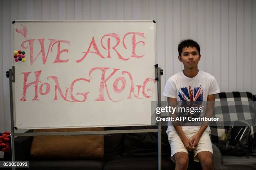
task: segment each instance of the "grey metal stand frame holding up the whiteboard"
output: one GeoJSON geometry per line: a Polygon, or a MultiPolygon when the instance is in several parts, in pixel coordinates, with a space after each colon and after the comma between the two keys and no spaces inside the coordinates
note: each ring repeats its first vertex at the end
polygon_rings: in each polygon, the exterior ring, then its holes
{"type": "MultiPolygon", "coordinates": [[[[161,75],[163,75],[163,70],[155,65],[156,81],[157,81],[157,98],[158,107],[161,107],[161,75]]],[[[79,132],[42,132],[42,133],[14,133],[14,118],[13,118],[13,82],[15,82],[15,67],[6,72],[6,77],[9,78],[10,86],[10,118],[11,118],[11,151],[12,151],[12,161],[15,161],[15,148],[14,148],[14,136],[46,136],[46,135],[107,135],[115,133],[150,133],[157,132],[157,157],[158,157],[158,170],[161,170],[161,122],[158,122],[157,129],[138,129],[138,130],[102,130],[102,131],[79,131],[79,132]]],[[[161,116],[161,115],[160,115],[161,116]]],[[[13,167],[15,170],[15,167],[13,167]]]]}

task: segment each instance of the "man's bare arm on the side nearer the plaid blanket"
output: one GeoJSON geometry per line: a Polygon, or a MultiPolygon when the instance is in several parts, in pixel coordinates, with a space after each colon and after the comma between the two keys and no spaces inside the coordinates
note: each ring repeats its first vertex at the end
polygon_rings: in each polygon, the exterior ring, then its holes
{"type": "MultiPolygon", "coordinates": [[[[212,117],[213,111],[214,111],[214,101],[215,101],[215,94],[207,96],[207,108],[205,111],[205,117],[212,117]]],[[[208,127],[208,125],[209,125],[209,121],[203,121],[197,134],[192,136],[191,141],[194,147],[199,143],[199,140],[202,134],[205,132],[205,129],[208,127]]]]}

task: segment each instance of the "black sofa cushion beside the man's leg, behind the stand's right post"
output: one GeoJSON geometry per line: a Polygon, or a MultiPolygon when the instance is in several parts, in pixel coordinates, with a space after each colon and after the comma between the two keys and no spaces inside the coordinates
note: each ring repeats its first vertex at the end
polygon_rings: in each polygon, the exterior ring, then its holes
{"type": "MultiPolygon", "coordinates": [[[[137,126],[130,129],[156,129],[156,126],[137,126]]],[[[166,127],[161,127],[162,155],[171,155],[166,127]]],[[[157,133],[126,133],[124,137],[124,157],[157,156],[157,133]]]]}

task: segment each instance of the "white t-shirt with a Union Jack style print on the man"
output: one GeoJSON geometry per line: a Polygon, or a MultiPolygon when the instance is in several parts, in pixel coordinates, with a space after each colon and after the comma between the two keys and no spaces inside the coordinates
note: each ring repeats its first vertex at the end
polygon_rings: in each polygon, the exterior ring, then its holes
{"type": "MultiPolygon", "coordinates": [[[[164,87],[163,95],[166,97],[176,98],[177,101],[207,101],[208,95],[220,92],[218,83],[212,75],[199,70],[195,77],[189,78],[184,75],[183,71],[170,77],[164,87]]],[[[200,129],[200,126],[182,126],[182,129],[200,129]]],[[[172,122],[168,122],[166,133],[175,130],[172,122]]],[[[210,131],[208,127],[207,130],[210,131]]]]}

